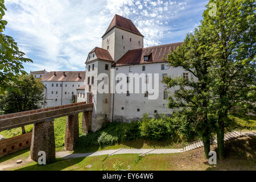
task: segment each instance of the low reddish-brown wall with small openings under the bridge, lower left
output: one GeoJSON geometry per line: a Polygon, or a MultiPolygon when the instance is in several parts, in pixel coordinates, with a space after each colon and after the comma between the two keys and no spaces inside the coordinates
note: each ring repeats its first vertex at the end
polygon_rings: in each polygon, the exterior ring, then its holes
{"type": "Polygon", "coordinates": [[[28,148],[31,145],[32,133],[0,140],[0,157],[28,148]]]}

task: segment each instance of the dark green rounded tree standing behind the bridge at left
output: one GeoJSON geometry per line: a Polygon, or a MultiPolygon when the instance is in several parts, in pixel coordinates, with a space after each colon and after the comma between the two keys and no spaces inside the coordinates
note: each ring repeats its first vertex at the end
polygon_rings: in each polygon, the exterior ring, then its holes
{"type": "MultiPolygon", "coordinates": [[[[18,83],[13,82],[10,90],[5,96],[0,96],[0,108],[4,114],[17,113],[21,111],[39,109],[43,101],[44,85],[36,80],[33,75],[23,75],[18,78],[18,83]]],[[[22,127],[24,134],[24,127],[22,127]]]]}

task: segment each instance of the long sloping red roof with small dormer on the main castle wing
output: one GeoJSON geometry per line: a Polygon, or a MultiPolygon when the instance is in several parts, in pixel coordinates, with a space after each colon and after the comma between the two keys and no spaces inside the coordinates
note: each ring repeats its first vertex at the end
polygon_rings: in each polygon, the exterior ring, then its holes
{"type": "Polygon", "coordinates": [[[182,42],[130,50],[114,66],[165,62],[163,59],[167,59],[170,51],[174,51],[181,44],[182,42]],[[150,59],[144,61],[144,56],[150,56],[150,59]]]}

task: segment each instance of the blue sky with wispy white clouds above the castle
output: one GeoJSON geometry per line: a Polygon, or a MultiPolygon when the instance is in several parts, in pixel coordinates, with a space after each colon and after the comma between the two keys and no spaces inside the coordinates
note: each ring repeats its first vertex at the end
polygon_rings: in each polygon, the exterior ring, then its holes
{"type": "MultiPolygon", "coordinates": [[[[125,17],[144,35],[144,47],[182,42],[200,24],[208,0],[125,0],[125,17]]],[[[85,59],[115,14],[121,0],[6,0],[5,34],[34,63],[27,72],[83,71],[85,59]]]]}

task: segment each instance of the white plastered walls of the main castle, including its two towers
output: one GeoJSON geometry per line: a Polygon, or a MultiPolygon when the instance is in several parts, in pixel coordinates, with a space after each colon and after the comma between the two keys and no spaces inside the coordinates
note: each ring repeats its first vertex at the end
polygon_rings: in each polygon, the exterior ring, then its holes
{"type": "MultiPolygon", "coordinates": [[[[105,51],[107,50],[109,55],[116,62],[122,57],[125,57],[124,55],[127,51],[142,49],[143,36],[131,31],[126,31],[122,28],[114,27],[102,37],[102,48],[105,51]]],[[[162,51],[161,48],[159,48],[158,51],[153,48],[154,51],[150,52],[151,49],[147,49],[146,55],[141,55],[141,57],[152,55],[151,60],[154,60],[156,57],[154,57],[154,54],[156,55],[159,50],[162,51]]],[[[166,53],[166,55],[168,53],[166,53]]],[[[163,57],[166,55],[163,55],[163,57]]],[[[100,54],[98,56],[100,56],[100,54]]],[[[174,89],[165,90],[166,88],[164,84],[162,84],[162,78],[165,76],[164,74],[168,74],[172,77],[178,75],[182,77],[183,73],[186,72],[181,68],[167,67],[167,63],[162,60],[162,57],[160,57],[160,60],[156,60],[155,63],[153,63],[153,61],[147,64],[138,63],[141,57],[135,60],[136,64],[130,64],[129,62],[128,65],[115,66],[113,64],[115,63],[114,61],[102,60],[96,56],[96,52],[89,53],[88,59],[86,60],[85,100],[90,103],[90,94],[92,95],[92,103],[94,104],[92,119],[93,131],[100,129],[105,121],[138,121],[138,119],[143,117],[144,113],[147,113],[150,117],[154,117],[156,113],[172,114],[172,110],[167,108],[167,96],[173,94],[174,89]],[[106,64],[108,64],[108,70],[105,69],[106,64]],[[144,70],[142,69],[143,66],[144,70]],[[106,77],[109,78],[109,80],[105,79],[105,82],[108,83],[109,93],[98,92],[98,85],[102,82],[102,78],[98,76],[101,73],[105,73],[106,77]],[[130,93],[130,96],[127,96],[127,93],[110,93],[110,90],[115,90],[115,85],[117,84],[115,76],[118,73],[124,73],[126,77],[129,77],[129,73],[138,73],[139,75],[141,73],[158,74],[158,98],[156,100],[148,100],[147,95],[145,97],[145,93],[130,93]],[[113,81],[113,85],[110,84],[110,80],[113,81]],[[168,91],[168,94],[166,91],[168,91]]],[[[126,58],[130,59],[130,57],[127,56],[126,58]]]]}

